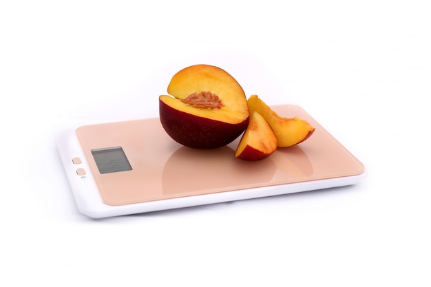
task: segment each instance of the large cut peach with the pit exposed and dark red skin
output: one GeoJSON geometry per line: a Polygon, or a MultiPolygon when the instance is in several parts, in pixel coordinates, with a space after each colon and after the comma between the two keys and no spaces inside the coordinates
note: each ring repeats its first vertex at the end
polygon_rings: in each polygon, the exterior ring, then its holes
{"type": "Polygon", "coordinates": [[[249,123],[244,90],[219,67],[186,67],[171,78],[167,92],[170,96],[159,97],[160,122],[171,138],[186,147],[223,147],[249,123]]]}

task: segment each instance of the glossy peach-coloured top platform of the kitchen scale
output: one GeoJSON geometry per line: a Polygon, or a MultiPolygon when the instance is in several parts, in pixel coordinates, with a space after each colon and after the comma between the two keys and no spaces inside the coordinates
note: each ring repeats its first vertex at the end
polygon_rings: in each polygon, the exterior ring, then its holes
{"type": "Polygon", "coordinates": [[[158,118],[85,125],[76,129],[76,136],[90,171],[83,167],[81,172],[92,175],[101,200],[109,206],[319,182],[364,173],[364,165],[301,107],[272,108],[282,116],[308,120],[315,127],[314,134],[299,145],[277,149],[264,160],[246,162],[234,156],[240,138],[219,149],[190,149],[174,142],[158,118]],[[109,154],[107,165],[114,165],[115,172],[103,170],[104,153],[109,154]]]}

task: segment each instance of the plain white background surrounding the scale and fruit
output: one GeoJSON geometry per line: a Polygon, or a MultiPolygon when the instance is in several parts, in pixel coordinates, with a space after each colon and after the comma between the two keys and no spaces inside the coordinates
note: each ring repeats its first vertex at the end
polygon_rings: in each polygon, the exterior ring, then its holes
{"type": "Polygon", "coordinates": [[[0,285],[430,286],[430,15],[426,0],[0,0],[0,285]],[[58,118],[158,116],[170,77],[195,63],[301,105],[368,177],[78,213],[58,118]]]}

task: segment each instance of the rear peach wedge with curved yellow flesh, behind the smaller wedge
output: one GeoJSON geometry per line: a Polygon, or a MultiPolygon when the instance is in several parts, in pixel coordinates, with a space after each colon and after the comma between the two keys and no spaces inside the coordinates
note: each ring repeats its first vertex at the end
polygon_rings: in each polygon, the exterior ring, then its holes
{"type": "Polygon", "coordinates": [[[297,116],[293,118],[279,116],[256,95],[250,96],[247,103],[250,114],[257,111],[272,127],[277,137],[278,147],[297,145],[309,138],[315,130],[306,120],[297,116]]]}

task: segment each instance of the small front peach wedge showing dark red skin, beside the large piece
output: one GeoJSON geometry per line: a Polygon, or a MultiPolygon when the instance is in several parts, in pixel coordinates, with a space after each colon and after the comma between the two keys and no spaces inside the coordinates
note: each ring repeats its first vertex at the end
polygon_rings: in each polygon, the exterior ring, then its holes
{"type": "Polygon", "coordinates": [[[253,112],[235,151],[240,160],[262,160],[277,149],[277,138],[270,125],[257,111],[253,112]]]}

